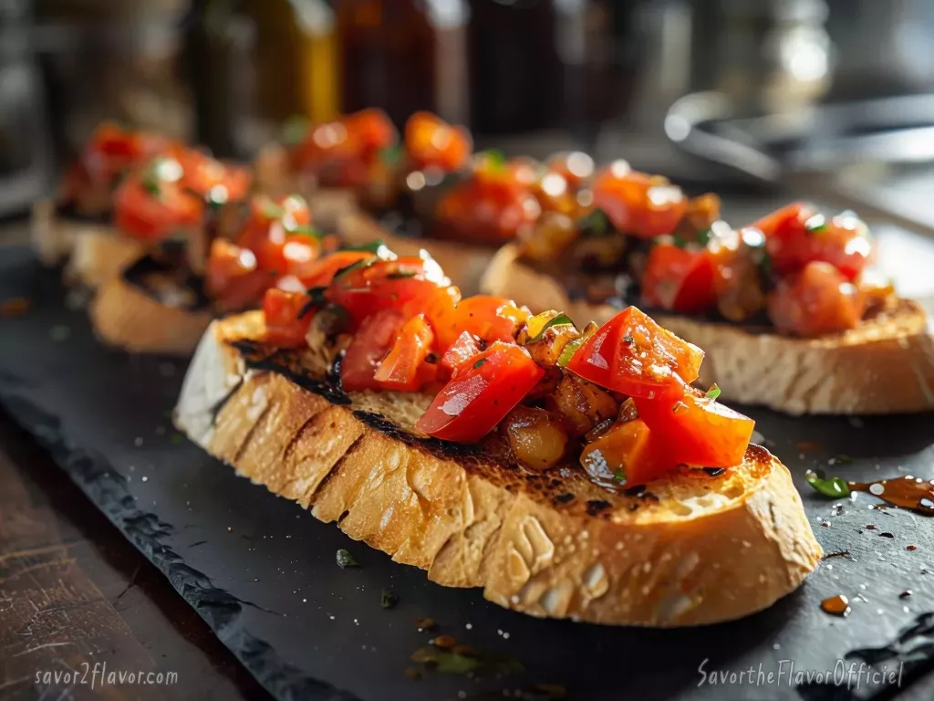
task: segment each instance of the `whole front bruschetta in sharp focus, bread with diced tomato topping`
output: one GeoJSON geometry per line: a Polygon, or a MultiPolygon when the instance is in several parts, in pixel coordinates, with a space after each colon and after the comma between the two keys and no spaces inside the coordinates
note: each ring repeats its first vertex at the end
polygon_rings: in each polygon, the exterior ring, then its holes
{"type": "Polygon", "coordinates": [[[637,308],[578,330],[461,299],[425,255],[344,263],[211,324],[180,431],[429,579],[534,616],[726,621],[814,570],[787,469],[690,384],[699,348],[637,308]]]}

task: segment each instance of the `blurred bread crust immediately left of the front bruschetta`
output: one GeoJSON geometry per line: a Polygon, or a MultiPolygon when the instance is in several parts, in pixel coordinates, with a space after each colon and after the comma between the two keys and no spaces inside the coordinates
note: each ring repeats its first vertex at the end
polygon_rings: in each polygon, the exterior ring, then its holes
{"type": "Polygon", "coordinates": [[[110,345],[172,355],[190,355],[213,319],[207,309],[163,304],[121,276],[98,289],[89,311],[94,331],[110,345]]]}

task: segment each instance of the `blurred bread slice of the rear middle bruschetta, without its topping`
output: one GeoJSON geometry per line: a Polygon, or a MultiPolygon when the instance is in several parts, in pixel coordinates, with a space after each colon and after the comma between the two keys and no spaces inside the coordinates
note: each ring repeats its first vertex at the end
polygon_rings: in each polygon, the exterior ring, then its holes
{"type": "Polygon", "coordinates": [[[464,295],[479,291],[480,279],[496,252],[488,246],[459,241],[399,236],[362,211],[342,216],[337,222],[337,233],[350,246],[366,244],[379,238],[399,255],[417,256],[418,251],[427,250],[464,295]]]}

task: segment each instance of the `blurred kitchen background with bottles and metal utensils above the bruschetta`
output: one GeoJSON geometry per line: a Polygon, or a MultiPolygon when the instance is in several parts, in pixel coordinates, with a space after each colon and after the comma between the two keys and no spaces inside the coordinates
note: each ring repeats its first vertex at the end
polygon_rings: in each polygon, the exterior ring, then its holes
{"type": "Polygon", "coordinates": [[[0,0],[0,214],[105,119],[248,159],[370,106],[934,232],[929,0],[0,0]]]}

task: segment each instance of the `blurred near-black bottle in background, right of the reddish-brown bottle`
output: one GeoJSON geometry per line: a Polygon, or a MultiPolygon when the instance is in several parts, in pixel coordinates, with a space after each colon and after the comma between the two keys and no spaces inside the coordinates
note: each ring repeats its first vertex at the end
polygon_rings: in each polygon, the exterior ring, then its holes
{"type": "Polygon", "coordinates": [[[563,80],[550,0],[474,0],[468,31],[471,125],[478,134],[557,126],[563,80]]]}

